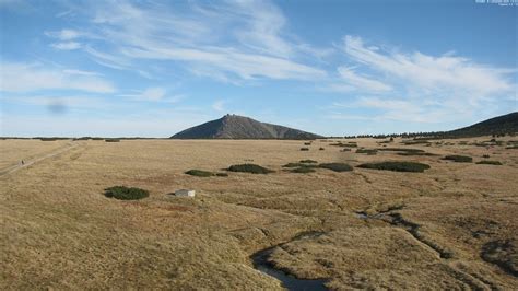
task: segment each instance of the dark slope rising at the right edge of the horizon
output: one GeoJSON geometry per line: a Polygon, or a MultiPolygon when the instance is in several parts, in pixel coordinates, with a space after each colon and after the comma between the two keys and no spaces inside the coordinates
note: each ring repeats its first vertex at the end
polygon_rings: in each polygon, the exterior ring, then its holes
{"type": "Polygon", "coordinates": [[[494,117],[472,126],[446,131],[452,137],[479,137],[518,132],[518,112],[494,117]]]}

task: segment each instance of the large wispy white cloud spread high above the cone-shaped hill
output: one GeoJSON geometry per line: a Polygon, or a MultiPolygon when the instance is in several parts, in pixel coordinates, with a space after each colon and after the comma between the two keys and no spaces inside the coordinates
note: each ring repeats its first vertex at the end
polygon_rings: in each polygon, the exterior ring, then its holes
{"type": "MultiPolygon", "coordinates": [[[[215,80],[315,80],[327,75],[325,70],[294,59],[303,49],[286,40],[286,19],[266,1],[192,3],[184,10],[119,1],[97,3],[84,11],[95,23],[84,27],[90,31],[83,35],[94,36],[84,40],[84,51],[113,69],[136,70],[142,61],[165,60],[184,65],[186,71],[204,68],[201,75],[215,80]]],[[[71,30],[50,35],[76,36],[71,30]]]]}

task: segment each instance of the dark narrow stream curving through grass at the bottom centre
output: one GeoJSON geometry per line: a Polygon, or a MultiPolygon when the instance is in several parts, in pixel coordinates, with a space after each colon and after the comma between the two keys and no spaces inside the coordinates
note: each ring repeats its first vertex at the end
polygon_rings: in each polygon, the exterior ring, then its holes
{"type": "MultiPolygon", "coordinates": [[[[309,237],[317,237],[321,235],[322,233],[318,232],[309,232],[309,233],[302,233],[297,236],[295,236],[292,241],[296,240],[304,240],[304,238],[309,238],[309,237]]],[[[307,290],[307,291],[319,291],[319,290],[328,290],[323,283],[326,283],[328,280],[326,279],[315,279],[315,280],[309,280],[309,279],[297,279],[295,276],[292,276],[290,273],[286,273],[282,270],[275,269],[271,263],[268,261],[268,258],[270,257],[271,253],[273,249],[278,246],[282,246],[282,243],[279,245],[274,245],[264,249],[261,249],[257,253],[255,253],[251,256],[251,259],[254,261],[254,268],[257,270],[274,277],[279,281],[282,282],[282,287],[286,288],[287,290],[307,290]]]]}

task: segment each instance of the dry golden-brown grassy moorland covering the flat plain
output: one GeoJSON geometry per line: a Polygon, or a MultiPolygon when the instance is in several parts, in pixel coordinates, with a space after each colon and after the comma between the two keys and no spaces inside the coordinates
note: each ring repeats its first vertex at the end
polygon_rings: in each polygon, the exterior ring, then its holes
{"type": "MultiPolygon", "coordinates": [[[[513,289],[518,150],[473,144],[488,139],[429,147],[349,140],[438,154],[420,156],[341,152],[319,140],[73,141],[79,147],[0,176],[0,289],[281,289],[250,259],[273,245],[272,265],[299,278],[327,278],[330,289],[513,289]],[[442,160],[446,154],[473,163],[442,160]],[[504,165],[475,164],[484,154],[504,165]],[[305,159],[419,161],[432,168],[296,174],[282,167],[305,159]],[[247,162],[275,173],[184,174],[247,162]],[[115,185],[148,189],[150,197],[104,197],[115,185]],[[197,197],[167,195],[179,188],[196,189],[197,197]],[[311,232],[318,235],[293,240],[311,232]]],[[[68,143],[0,140],[0,164],[68,143]]]]}

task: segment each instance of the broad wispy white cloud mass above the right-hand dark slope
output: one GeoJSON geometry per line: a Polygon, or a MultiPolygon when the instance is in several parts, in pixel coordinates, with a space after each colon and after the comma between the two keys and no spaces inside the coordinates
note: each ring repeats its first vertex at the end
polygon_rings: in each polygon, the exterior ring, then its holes
{"type": "Polygon", "coordinates": [[[516,68],[481,65],[451,51],[431,56],[380,47],[389,46],[366,45],[357,36],[343,38],[343,53],[355,65],[354,70],[339,67],[341,82],[326,89],[344,93],[361,90],[362,94],[332,104],[332,110],[354,114],[364,108],[376,120],[447,123],[481,109],[491,110],[502,100],[516,98],[516,68]]]}

